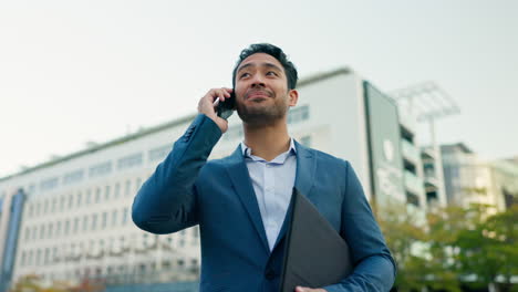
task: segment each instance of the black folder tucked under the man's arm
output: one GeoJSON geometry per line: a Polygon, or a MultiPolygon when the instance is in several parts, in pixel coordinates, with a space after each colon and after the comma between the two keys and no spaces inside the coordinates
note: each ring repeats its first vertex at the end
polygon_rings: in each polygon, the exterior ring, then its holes
{"type": "Polygon", "coordinates": [[[296,188],[291,199],[280,291],[340,282],[352,271],[348,243],[296,188]]]}

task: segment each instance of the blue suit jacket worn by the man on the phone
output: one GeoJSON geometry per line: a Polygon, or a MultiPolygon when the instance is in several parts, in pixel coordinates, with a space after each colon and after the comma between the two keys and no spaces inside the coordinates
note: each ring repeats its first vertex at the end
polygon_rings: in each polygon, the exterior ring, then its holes
{"type": "MultiPolygon", "coordinates": [[[[133,202],[133,220],[154,233],[199,225],[200,291],[278,291],[286,225],[270,252],[248,169],[239,147],[207,161],[221,136],[199,114],[158,165],[133,202]]],[[[353,273],[332,291],[388,291],[395,264],[351,165],[297,147],[296,187],[348,241],[353,273]]]]}

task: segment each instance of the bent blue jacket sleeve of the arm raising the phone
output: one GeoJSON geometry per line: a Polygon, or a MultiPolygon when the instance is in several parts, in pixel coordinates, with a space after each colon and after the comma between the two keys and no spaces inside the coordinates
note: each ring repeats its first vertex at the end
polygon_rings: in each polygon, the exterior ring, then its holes
{"type": "Polygon", "coordinates": [[[198,114],[173,150],[138,190],[132,207],[135,225],[170,233],[198,223],[195,181],[221,137],[213,119],[198,114]]]}

